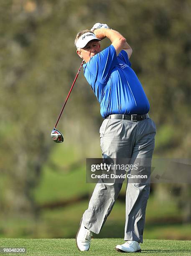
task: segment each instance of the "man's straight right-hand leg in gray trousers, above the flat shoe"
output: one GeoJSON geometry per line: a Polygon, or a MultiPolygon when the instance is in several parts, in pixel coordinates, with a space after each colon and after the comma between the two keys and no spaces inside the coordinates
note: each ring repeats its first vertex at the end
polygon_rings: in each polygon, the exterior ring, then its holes
{"type": "MultiPolygon", "coordinates": [[[[138,122],[135,146],[132,151],[131,164],[140,164],[137,174],[150,177],[150,165],[155,146],[156,128],[150,118],[138,122]]],[[[131,183],[127,181],[125,241],[133,240],[143,243],[145,211],[150,193],[150,182],[131,183]]]]}

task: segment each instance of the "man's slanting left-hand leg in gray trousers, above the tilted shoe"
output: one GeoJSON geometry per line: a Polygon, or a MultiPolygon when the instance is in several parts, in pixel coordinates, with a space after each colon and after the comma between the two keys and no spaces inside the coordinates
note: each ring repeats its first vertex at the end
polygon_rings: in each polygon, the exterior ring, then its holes
{"type": "MultiPolygon", "coordinates": [[[[106,119],[100,127],[100,140],[104,158],[130,158],[136,139],[137,122],[106,119]],[[131,137],[131,139],[130,139],[131,137]]],[[[122,183],[98,183],[83,215],[83,224],[99,233],[121,190],[122,183]]]]}

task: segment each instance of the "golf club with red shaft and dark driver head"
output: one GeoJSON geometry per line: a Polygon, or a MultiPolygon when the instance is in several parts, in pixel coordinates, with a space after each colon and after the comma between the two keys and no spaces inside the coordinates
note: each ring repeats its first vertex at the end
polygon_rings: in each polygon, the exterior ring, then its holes
{"type": "Polygon", "coordinates": [[[64,105],[63,105],[63,107],[62,107],[62,109],[61,109],[60,115],[59,115],[59,117],[58,117],[58,119],[57,119],[57,121],[56,121],[56,124],[54,125],[54,128],[53,128],[52,132],[51,132],[51,138],[52,138],[52,140],[53,140],[54,142],[56,142],[56,143],[61,143],[61,142],[64,141],[63,135],[61,134],[61,132],[60,132],[59,130],[56,129],[56,126],[57,126],[57,124],[59,123],[61,114],[62,114],[62,112],[63,112],[63,110],[64,110],[64,107],[65,107],[65,105],[66,105],[66,102],[67,102],[67,100],[68,100],[68,98],[69,98],[69,96],[70,96],[71,90],[72,90],[72,88],[74,87],[74,84],[75,84],[75,82],[76,82],[76,79],[77,79],[77,77],[78,77],[78,75],[79,75],[79,72],[80,72],[81,67],[82,67],[83,64],[84,64],[84,60],[81,62],[81,65],[80,65],[80,67],[79,67],[79,69],[78,69],[78,72],[77,72],[77,74],[76,74],[76,77],[75,77],[75,79],[74,79],[74,82],[73,82],[73,84],[71,85],[69,94],[68,94],[68,96],[66,97],[66,100],[65,100],[64,105]]]}

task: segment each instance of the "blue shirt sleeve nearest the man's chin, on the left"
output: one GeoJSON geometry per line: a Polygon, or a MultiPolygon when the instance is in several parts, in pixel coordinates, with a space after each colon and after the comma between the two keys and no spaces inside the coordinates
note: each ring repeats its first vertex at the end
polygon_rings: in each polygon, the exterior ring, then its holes
{"type": "Polygon", "coordinates": [[[106,49],[94,55],[86,65],[86,69],[96,80],[105,84],[110,76],[111,70],[117,65],[117,55],[114,46],[110,45],[106,49]]]}

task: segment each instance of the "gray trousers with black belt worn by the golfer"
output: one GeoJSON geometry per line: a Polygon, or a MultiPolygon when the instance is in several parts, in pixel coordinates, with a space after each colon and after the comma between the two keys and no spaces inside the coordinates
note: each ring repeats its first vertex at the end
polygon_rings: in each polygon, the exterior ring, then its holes
{"type": "MultiPolygon", "coordinates": [[[[147,118],[141,121],[119,119],[104,119],[100,127],[100,142],[103,158],[136,159],[146,161],[153,156],[156,127],[153,120],[147,118]]],[[[143,168],[144,169],[144,168],[143,168]]],[[[142,171],[139,170],[139,174],[142,171]]],[[[150,173],[150,166],[147,167],[150,173]]],[[[88,209],[83,214],[83,224],[93,233],[98,234],[110,214],[120,193],[122,183],[97,183],[88,209]]],[[[145,211],[150,193],[150,183],[130,183],[127,180],[126,189],[126,222],[124,240],[134,240],[143,243],[145,211]]]]}

